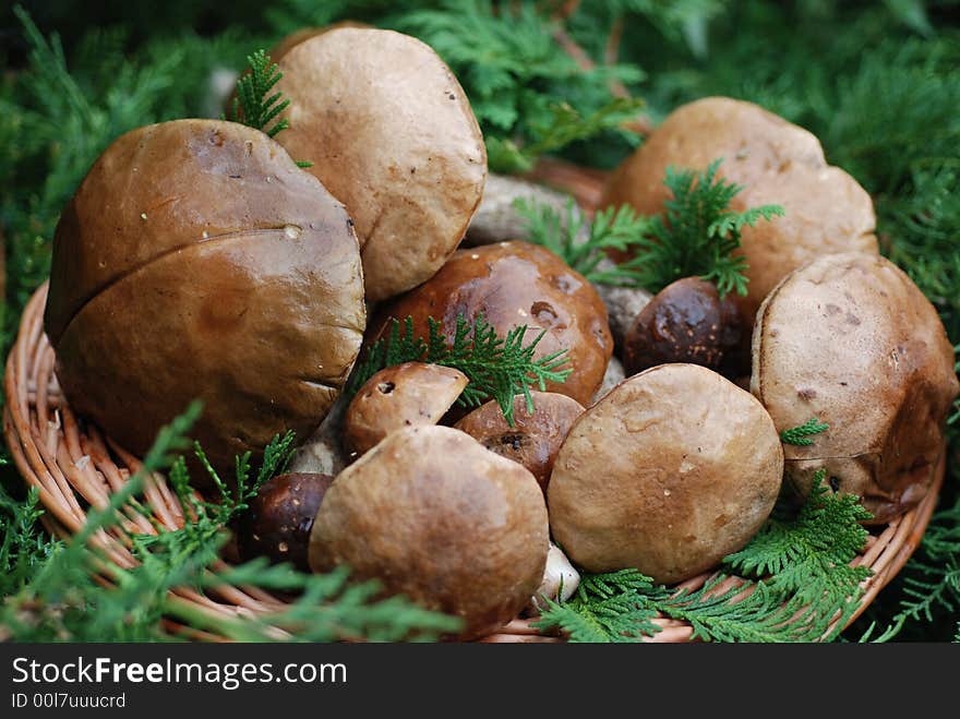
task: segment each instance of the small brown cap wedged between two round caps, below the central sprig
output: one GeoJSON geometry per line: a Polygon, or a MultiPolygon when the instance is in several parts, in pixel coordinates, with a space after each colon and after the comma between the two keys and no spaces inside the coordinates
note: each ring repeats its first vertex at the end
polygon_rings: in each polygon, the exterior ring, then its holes
{"type": "Polygon", "coordinates": [[[500,405],[492,400],[471,411],[454,427],[491,452],[524,465],[545,492],[560,445],[574,420],[584,412],[584,406],[555,392],[530,394],[533,397],[532,412],[527,411],[527,400],[523,395],[514,397],[513,427],[507,423],[500,405]]]}

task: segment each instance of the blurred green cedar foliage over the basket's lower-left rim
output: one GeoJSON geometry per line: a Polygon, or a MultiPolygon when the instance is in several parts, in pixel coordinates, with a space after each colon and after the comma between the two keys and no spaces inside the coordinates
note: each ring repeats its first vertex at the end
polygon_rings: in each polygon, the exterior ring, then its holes
{"type": "Polygon", "coordinates": [[[459,620],[422,610],[400,597],[381,599],[375,583],[349,583],[349,571],[303,574],[290,565],[268,565],[264,559],[214,573],[227,540],[225,525],[247,507],[256,489],[283,470],[290,455],[292,435],[277,436],[267,446],[263,464],[252,479],[249,453],[237,459],[237,482],[229,489],[205,463],[219,489],[217,502],[194,496],[183,456],[187,432],[199,416],[199,405],[176,418],[157,436],[140,472],[110,504],[92,510],[84,528],[64,546],[37,537],[33,520],[35,499],[12,503],[0,494],[0,517],[8,530],[0,544],[0,638],[16,642],[161,642],[176,638],[161,620],[197,631],[220,634],[240,642],[332,642],[367,637],[396,642],[435,638],[456,631],[459,620]],[[176,531],[128,535],[140,564],[121,568],[101,555],[89,540],[105,529],[117,530],[121,507],[141,506],[145,478],[170,468],[170,482],[184,516],[192,517],[176,531]],[[5,515],[5,516],[4,516],[5,515]],[[39,544],[41,549],[35,550],[39,544]],[[24,567],[29,566],[26,582],[24,567]],[[104,586],[95,576],[109,582],[104,586]],[[195,604],[171,596],[177,587],[216,591],[218,586],[241,585],[291,592],[296,598],[269,618],[228,619],[213,615],[195,604]],[[268,619],[268,622],[267,622],[268,619]]]}

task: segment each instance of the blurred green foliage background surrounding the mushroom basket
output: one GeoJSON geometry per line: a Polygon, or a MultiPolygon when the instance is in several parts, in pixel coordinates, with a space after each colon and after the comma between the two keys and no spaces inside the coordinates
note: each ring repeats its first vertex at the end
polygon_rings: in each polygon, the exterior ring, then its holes
{"type": "MultiPolygon", "coordinates": [[[[609,168],[641,141],[623,129],[638,113],[656,124],[679,104],[717,94],[759,103],[814,132],[828,159],[867,189],[883,251],[960,341],[957,0],[41,0],[20,8],[0,4],[4,356],[24,302],[46,278],[60,207],[110,141],[148,122],[218,116],[247,55],[341,19],[431,44],[465,86],[500,171],[529,169],[541,154],[609,168]]],[[[951,426],[951,459],[957,446],[951,426]]],[[[956,466],[924,546],[844,638],[891,621],[898,640],[960,635],[956,466]]],[[[3,470],[2,488],[22,498],[15,471],[3,470]]]]}

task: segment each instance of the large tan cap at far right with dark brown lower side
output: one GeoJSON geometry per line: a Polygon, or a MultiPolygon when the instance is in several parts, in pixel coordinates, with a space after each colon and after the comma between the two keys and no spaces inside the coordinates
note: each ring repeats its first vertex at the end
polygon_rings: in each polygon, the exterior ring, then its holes
{"type": "Polygon", "coordinates": [[[824,468],[884,523],[926,494],[958,393],[953,348],[936,309],[889,260],[820,257],[770,293],[754,328],[751,390],[777,429],[830,426],[784,445],[802,493],[824,468]]]}

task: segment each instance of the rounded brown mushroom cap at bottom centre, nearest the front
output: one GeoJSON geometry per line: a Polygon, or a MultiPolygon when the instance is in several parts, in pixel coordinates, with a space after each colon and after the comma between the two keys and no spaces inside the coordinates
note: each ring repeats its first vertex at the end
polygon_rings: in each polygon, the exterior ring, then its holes
{"type": "Polygon", "coordinates": [[[461,638],[514,619],[543,578],[543,494],[529,471],[449,427],[391,433],[337,477],[310,565],[346,563],[388,594],[463,618],[461,638]]]}

